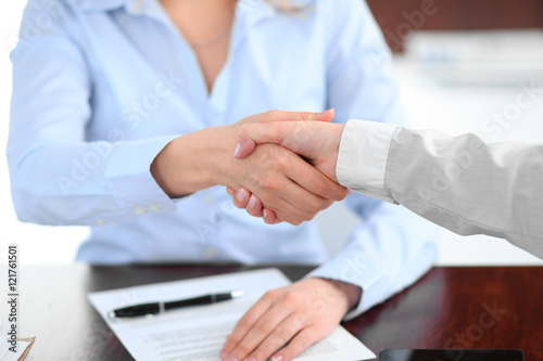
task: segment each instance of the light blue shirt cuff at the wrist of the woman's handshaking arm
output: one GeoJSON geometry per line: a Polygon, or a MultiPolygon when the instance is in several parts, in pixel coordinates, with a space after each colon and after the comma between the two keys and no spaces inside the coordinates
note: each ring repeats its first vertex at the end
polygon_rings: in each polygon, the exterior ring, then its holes
{"type": "Polygon", "coordinates": [[[137,219],[149,214],[177,209],[176,202],[151,175],[154,158],[176,137],[178,136],[115,144],[105,178],[118,205],[131,215],[129,218],[137,219]]]}

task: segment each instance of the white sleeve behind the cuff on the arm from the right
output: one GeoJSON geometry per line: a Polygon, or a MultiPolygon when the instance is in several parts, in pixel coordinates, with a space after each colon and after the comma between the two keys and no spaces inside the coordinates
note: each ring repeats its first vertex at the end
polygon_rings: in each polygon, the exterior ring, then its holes
{"type": "Polygon", "coordinates": [[[455,233],[498,236],[543,257],[542,159],[543,145],[402,129],[386,185],[400,204],[455,233]]]}

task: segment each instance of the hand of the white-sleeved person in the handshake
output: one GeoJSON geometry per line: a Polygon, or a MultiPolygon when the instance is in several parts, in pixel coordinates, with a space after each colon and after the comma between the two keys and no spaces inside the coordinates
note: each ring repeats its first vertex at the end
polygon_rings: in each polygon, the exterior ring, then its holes
{"type": "MultiPolygon", "coordinates": [[[[257,144],[279,144],[304,156],[313,166],[337,182],[336,165],[343,128],[343,124],[323,121],[275,121],[244,125],[240,129],[240,141],[235,156],[247,157],[257,149],[257,144]]],[[[258,199],[243,188],[237,191],[229,188],[227,191],[233,196],[233,204],[238,208],[247,208],[247,211],[254,217],[264,217],[266,223],[289,221],[283,218],[285,216],[279,216],[267,207],[265,201],[258,199]]]]}

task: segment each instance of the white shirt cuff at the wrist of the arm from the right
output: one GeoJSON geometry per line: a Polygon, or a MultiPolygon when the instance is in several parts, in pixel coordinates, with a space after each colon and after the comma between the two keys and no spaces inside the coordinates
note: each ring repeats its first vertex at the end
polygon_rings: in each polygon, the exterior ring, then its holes
{"type": "Polygon", "coordinates": [[[370,197],[396,203],[384,185],[390,143],[399,126],[349,120],[343,129],[336,176],[341,185],[370,197]]]}

